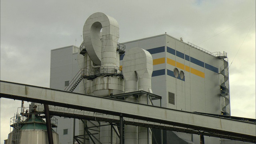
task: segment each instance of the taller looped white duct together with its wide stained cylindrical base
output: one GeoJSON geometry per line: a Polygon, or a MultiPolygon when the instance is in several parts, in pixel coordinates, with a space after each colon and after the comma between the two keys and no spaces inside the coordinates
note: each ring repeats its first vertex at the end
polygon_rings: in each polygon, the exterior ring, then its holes
{"type": "MultiPolygon", "coordinates": [[[[84,24],[83,39],[86,48],[83,68],[86,68],[89,72],[100,70],[104,73],[111,73],[119,68],[119,53],[116,52],[119,25],[114,18],[101,12],[89,16],[84,24]],[[100,32],[101,30],[102,32],[100,32]]],[[[124,80],[116,76],[99,76],[92,81],[85,80],[84,84],[84,88],[80,86],[80,89],[84,90],[85,94],[108,96],[124,92],[124,80]]],[[[87,125],[92,126],[90,123],[87,123],[87,125]]],[[[83,132],[81,127],[80,133],[83,132]]],[[[102,144],[108,144],[110,142],[110,127],[101,126],[98,136],[102,144]]],[[[113,132],[113,144],[116,144],[116,137],[113,132]]]]}

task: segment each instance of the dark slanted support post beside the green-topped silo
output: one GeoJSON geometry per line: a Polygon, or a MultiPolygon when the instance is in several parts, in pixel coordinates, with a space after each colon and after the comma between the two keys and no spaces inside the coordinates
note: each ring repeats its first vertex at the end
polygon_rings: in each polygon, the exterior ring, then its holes
{"type": "Polygon", "coordinates": [[[52,126],[51,126],[51,119],[50,119],[50,112],[49,112],[48,104],[44,104],[44,114],[45,114],[45,118],[46,118],[48,142],[49,142],[49,144],[53,144],[52,126]]]}

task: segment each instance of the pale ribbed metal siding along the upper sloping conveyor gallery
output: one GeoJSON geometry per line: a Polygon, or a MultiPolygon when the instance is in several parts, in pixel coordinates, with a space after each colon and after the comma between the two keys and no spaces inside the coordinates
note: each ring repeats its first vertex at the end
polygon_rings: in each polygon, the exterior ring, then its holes
{"type": "Polygon", "coordinates": [[[49,88],[26,86],[3,81],[1,81],[0,84],[1,94],[16,95],[24,98],[34,98],[64,104],[67,103],[76,106],[154,118],[158,119],[159,121],[164,120],[169,122],[177,122],[204,128],[256,136],[256,125],[252,123],[123,102],[119,100],[99,98],[96,96],[75,94],[59,90],[52,90],[49,88]]]}

